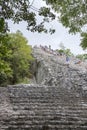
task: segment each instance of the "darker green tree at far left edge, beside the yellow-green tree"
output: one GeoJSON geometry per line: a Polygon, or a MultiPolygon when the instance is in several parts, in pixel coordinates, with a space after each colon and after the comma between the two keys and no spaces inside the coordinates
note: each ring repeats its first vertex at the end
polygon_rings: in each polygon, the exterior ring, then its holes
{"type": "Polygon", "coordinates": [[[11,50],[9,50],[9,37],[7,34],[0,35],[0,84],[7,84],[9,78],[12,77],[12,69],[10,67],[11,50]]]}

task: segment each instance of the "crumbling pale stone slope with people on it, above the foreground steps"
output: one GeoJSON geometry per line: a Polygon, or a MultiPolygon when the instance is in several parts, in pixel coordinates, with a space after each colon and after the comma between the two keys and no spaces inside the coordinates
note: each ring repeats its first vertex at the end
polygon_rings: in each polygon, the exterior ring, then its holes
{"type": "Polygon", "coordinates": [[[41,49],[35,49],[34,55],[37,70],[35,79],[38,84],[86,89],[87,69],[84,66],[75,65],[73,60],[66,64],[64,57],[48,54],[41,49]]]}

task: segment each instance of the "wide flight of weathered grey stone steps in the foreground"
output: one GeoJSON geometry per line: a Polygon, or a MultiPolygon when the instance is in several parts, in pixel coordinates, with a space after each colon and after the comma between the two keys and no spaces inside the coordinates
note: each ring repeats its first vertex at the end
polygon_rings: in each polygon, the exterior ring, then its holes
{"type": "Polygon", "coordinates": [[[7,94],[0,130],[87,130],[87,96],[75,90],[32,84],[9,86],[7,94]]]}

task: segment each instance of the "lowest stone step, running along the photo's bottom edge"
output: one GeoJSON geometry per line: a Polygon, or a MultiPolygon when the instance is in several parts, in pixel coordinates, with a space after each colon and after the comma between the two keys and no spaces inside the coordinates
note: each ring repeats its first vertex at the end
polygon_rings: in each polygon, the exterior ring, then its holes
{"type": "Polygon", "coordinates": [[[15,125],[9,126],[6,130],[87,130],[87,126],[79,125],[15,125]]]}

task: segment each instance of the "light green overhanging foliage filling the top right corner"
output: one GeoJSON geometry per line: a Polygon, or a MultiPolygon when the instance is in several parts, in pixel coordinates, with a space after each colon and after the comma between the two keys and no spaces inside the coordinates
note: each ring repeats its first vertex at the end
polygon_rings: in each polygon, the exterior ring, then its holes
{"type": "Polygon", "coordinates": [[[82,31],[87,24],[87,0],[45,0],[57,13],[70,33],[82,31]]]}

